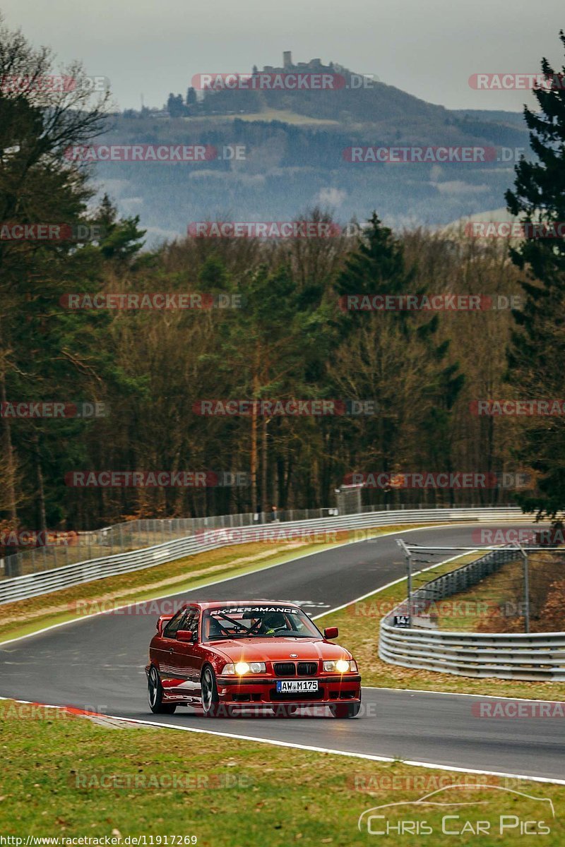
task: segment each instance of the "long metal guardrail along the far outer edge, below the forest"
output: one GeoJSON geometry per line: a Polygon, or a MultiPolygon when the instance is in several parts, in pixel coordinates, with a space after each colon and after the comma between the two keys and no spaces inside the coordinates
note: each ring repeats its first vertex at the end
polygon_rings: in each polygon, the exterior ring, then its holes
{"type": "MultiPolygon", "coordinates": [[[[174,562],[183,556],[193,556],[214,550],[218,547],[244,543],[257,537],[259,529],[280,532],[329,532],[332,530],[371,529],[379,526],[409,524],[409,523],[452,523],[467,521],[501,521],[523,520],[532,521],[530,515],[524,515],[518,507],[490,508],[437,508],[411,509],[397,512],[359,512],[352,515],[329,516],[305,521],[289,521],[285,523],[267,523],[260,526],[247,526],[239,529],[212,529],[208,534],[189,535],[164,544],[120,553],[117,556],[102,556],[86,562],[77,562],[64,567],[57,567],[39,573],[26,573],[24,576],[3,579],[0,581],[0,604],[27,597],[47,594],[90,582],[92,579],[103,579],[119,573],[141,570],[146,567],[174,562]],[[234,535],[236,534],[236,535],[234,535]]],[[[352,539],[354,540],[354,539],[352,539]]]]}

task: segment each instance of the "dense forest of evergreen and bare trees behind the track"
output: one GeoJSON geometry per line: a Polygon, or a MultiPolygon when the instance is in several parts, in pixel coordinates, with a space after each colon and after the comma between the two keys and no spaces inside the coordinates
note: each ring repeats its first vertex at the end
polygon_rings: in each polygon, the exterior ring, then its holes
{"type": "MultiPolygon", "coordinates": [[[[50,72],[47,51],[0,31],[0,75],[50,72]]],[[[75,69],[74,73],[79,71],[75,69]]],[[[527,124],[540,163],[518,165],[514,213],[565,220],[565,91],[527,124]],[[551,138],[548,136],[551,135],[551,138]],[[561,144],[561,147],[560,147],[561,144]],[[551,148],[551,149],[550,149],[551,148]]],[[[92,201],[64,150],[103,129],[105,102],[0,93],[0,221],[88,221],[91,243],[0,240],[0,519],[4,528],[94,529],[174,517],[335,504],[352,473],[529,473],[523,502],[565,506],[562,418],[478,416],[481,399],[565,397],[559,241],[424,229],[260,241],[186,238],[143,249],[139,219],[92,201]],[[68,307],[69,294],[201,293],[240,307],[68,307]],[[517,310],[351,312],[346,294],[521,297],[517,310]],[[324,418],[206,417],[203,399],[374,401],[324,418]],[[103,403],[91,419],[19,418],[16,402],[103,403]],[[248,484],[69,485],[75,471],[244,473],[248,484]],[[527,501],[527,502],[526,502],[527,501]]],[[[330,222],[323,209],[304,220],[330,222]]],[[[509,302],[503,300],[501,302],[509,302]]],[[[365,502],[507,503],[512,487],[366,490],[365,502]]]]}

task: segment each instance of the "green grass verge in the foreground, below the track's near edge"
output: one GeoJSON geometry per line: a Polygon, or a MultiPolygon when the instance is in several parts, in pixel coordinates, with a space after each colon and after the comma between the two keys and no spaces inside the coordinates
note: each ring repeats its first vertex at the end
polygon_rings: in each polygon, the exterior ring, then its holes
{"type": "MultiPolygon", "coordinates": [[[[506,836],[498,834],[501,816],[545,821],[550,832],[543,844],[565,843],[560,818],[565,786],[560,785],[409,767],[401,761],[368,761],[211,734],[107,728],[64,713],[57,717],[52,710],[30,710],[11,700],[0,701],[0,749],[0,834],[23,837],[24,844],[28,835],[69,839],[194,835],[198,847],[354,847],[372,840],[366,830],[357,830],[363,811],[418,800],[459,783],[466,787],[449,788],[436,799],[472,805],[401,806],[377,813],[385,814],[391,824],[408,818],[425,821],[433,829],[429,843],[440,847],[453,844],[455,838],[442,833],[446,814],[460,816],[450,820],[451,831],[462,829],[467,820],[474,826],[477,820],[490,823],[491,836],[468,832],[455,839],[461,845],[522,843],[515,827],[506,836]],[[478,784],[485,787],[477,788],[478,784]],[[555,819],[542,798],[552,800],[555,819]]],[[[385,839],[387,844],[421,841],[397,834],[385,839]]]]}

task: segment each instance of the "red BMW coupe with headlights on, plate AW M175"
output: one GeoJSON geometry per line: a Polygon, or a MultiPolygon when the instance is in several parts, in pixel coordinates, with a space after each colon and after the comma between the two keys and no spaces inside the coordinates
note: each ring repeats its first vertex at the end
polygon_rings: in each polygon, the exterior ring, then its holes
{"type": "Polygon", "coordinates": [[[293,603],[187,603],[158,619],[146,667],[149,706],[172,714],[196,706],[209,717],[237,711],[292,714],[328,706],[335,717],[361,708],[361,677],[350,652],[322,634],[293,603]]]}

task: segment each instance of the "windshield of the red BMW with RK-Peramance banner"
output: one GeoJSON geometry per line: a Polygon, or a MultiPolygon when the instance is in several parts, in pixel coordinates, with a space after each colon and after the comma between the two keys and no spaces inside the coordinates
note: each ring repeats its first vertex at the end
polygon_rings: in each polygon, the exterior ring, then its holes
{"type": "Polygon", "coordinates": [[[202,619],[207,641],[234,638],[322,638],[307,614],[292,606],[224,606],[202,619]]]}

